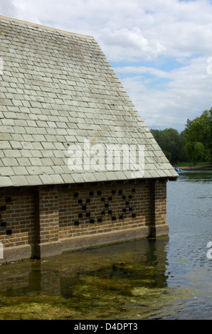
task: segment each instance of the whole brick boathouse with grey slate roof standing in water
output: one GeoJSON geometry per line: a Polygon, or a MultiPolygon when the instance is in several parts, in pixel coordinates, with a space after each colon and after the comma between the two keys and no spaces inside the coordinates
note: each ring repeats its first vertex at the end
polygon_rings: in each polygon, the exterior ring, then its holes
{"type": "Polygon", "coordinates": [[[177,174],[95,39],[0,16],[0,60],[0,262],[168,235],[177,174]]]}

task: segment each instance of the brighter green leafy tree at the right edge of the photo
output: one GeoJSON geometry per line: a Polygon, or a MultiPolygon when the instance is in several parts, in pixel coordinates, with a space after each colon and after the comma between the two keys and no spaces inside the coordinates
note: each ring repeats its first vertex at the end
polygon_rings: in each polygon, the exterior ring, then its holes
{"type": "Polygon", "coordinates": [[[197,161],[211,161],[212,163],[212,108],[205,110],[200,117],[189,122],[186,128],[185,145],[187,158],[194,164],[197,161]]]}

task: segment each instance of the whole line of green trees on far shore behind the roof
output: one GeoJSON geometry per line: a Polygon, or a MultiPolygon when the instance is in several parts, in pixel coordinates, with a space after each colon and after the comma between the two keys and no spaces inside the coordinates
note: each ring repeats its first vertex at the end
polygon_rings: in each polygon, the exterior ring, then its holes
{"type": "Polygon", "coordinates": [[[179,162],[209,162],[212,164],[212,107],[200,117],[187,119],[185,129],[150,129],[154,139],[172,165],[179,162]]]}

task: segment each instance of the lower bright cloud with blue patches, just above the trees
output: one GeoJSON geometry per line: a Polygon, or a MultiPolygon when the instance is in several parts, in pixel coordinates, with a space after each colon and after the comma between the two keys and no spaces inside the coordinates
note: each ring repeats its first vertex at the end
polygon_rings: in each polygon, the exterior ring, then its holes
{"type": "Polygon", "coordinates": [[[194,119],[212,107],[212,75],[206,60],[194,58],[170,72],[136,66],[115,68],[115,72],[149,128],[181,131],[187,118],[194,119]]]}

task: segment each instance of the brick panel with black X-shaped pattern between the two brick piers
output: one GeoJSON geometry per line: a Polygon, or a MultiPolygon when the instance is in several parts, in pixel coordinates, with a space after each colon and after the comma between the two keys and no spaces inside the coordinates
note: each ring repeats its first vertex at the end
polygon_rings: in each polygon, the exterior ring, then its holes
{"type": "Polygon", "coordinates": [[[59,190],[59,237],[134,228],[150,223],[148,183],[84,185],[59,190]]]}

